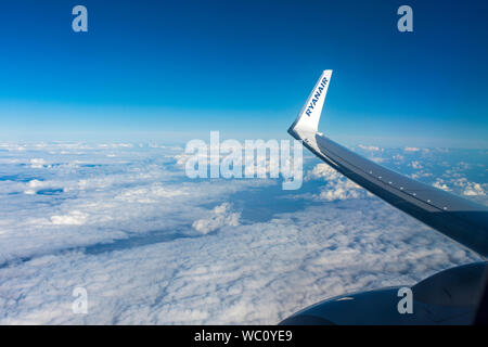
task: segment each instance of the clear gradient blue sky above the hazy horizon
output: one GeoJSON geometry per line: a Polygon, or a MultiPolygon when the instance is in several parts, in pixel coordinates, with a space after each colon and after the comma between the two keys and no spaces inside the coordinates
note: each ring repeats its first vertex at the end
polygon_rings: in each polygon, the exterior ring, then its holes
{"type": "Polygon", "coordinates": [[[487,1],[2,1],[0,141],[287,138],[322,69],[346,143],[488,147],[487,1]],[[89,31],[72,30],[88,8],[89,31]],[[396,28],[413,9],[414,33],[396,28]]]}

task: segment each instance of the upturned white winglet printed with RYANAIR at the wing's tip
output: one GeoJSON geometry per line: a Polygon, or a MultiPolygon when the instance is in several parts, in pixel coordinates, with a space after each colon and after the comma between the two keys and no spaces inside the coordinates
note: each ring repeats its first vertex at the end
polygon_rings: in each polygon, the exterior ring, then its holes
{"type": "Polygon", "coordinates": [[[320,75],[298,117],[290,127],[288,132],[296,138],[295,130],[307,130],[317,132],[319,129],[320,115],[322,114],[323,102],[328,93],[331,81],[332,69],[326,69],[320,75]]]}

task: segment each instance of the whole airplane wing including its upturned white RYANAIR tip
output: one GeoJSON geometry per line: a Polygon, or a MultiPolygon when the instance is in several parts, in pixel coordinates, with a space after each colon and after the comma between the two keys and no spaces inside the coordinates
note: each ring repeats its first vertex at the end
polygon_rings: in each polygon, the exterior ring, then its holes
{"type": "Polygon", "coordinates": [[[382,167],[318,132],[331,76],[322,73],[288,133],[357,184],[486,259],[487,207],[382,167]]]}

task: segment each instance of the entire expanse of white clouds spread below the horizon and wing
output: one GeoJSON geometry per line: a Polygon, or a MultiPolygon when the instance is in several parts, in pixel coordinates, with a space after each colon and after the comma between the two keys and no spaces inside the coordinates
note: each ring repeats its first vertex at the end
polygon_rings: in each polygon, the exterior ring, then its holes
{"type": "Polygon", "coordinates": [[[307,174],[311,200],[278,200],[272,180],[189,180],[181,147],[3,149],[0,324],[274,324],[479,259],[325,164],[307,174]],[[72,311],[78,286],[88,314],[72,311]]]}

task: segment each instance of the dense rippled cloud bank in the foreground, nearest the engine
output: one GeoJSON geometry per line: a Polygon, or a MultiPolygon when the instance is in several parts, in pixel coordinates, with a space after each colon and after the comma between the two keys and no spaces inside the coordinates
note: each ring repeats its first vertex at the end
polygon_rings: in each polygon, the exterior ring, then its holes
{"type": "Polygon", "coordinates": [[[274,324],[328,297],[411,285],[476,259],[377,200],[354,200],[201,237],[11,265],[0,269],[0,323],[274,324]],[[88,292],[86,316],[72,311],[77,286],[88,292]]]}

